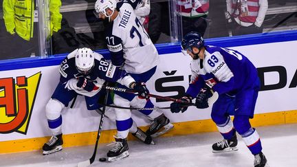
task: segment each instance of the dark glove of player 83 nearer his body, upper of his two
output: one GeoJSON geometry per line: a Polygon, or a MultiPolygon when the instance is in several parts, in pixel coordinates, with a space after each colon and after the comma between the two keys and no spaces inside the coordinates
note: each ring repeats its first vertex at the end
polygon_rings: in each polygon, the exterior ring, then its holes
{"type": "Polygon", "coordinates": [[[198,109],[206,109],[208,108],[208,99],[212,96],[212,92],[210,91],[210,88],[204,87],[200,90],[198,93],[198,96],[196,98],[195,106],[198,109]]]}

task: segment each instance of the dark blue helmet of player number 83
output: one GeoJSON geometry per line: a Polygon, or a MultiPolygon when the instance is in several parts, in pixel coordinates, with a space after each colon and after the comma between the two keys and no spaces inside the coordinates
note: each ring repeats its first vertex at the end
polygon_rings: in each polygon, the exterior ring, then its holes
{"type": "Polygon", "coordinates": [[[182,50],[190,49],[190,51],[192,52],[192,47],[197,47],[198,49],[200,49],[203,46],[204,39],[198,32],[189,32],[181,41],[182,50]]]}

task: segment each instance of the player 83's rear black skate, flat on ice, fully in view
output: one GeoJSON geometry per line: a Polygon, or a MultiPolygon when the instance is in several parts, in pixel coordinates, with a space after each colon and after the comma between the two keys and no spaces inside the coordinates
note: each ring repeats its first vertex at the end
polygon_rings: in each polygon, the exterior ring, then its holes
{"type": "Polygon", "coordinates": [[[238,151],[237,146],[237,137],[234,133],[233,137],[230,140],[222,140],[221,142],[214,143],[212,145],[212,153],[223,153],[228,151],[238,151]]]}

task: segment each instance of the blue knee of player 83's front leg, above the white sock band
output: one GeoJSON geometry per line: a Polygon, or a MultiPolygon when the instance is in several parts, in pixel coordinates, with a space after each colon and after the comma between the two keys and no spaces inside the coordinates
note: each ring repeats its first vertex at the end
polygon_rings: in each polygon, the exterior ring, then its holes
{"type": "Polygon", "coordinates": [[[248,115],[235,115],[233,124],[239,135],[243,135],[252,127],[250,124],[250,117],[248,115]]]}

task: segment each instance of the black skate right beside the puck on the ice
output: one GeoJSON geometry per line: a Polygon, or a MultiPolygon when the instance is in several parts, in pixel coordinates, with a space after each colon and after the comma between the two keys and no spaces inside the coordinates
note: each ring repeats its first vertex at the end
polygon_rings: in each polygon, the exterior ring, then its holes
{"type": "Polygon", "coordinates": [[[109,162],[114,162],[129,156],[129,146],[126,139],[115,137],[115,142],[113,144],[113,147],[107,153],[109,162]]]}

